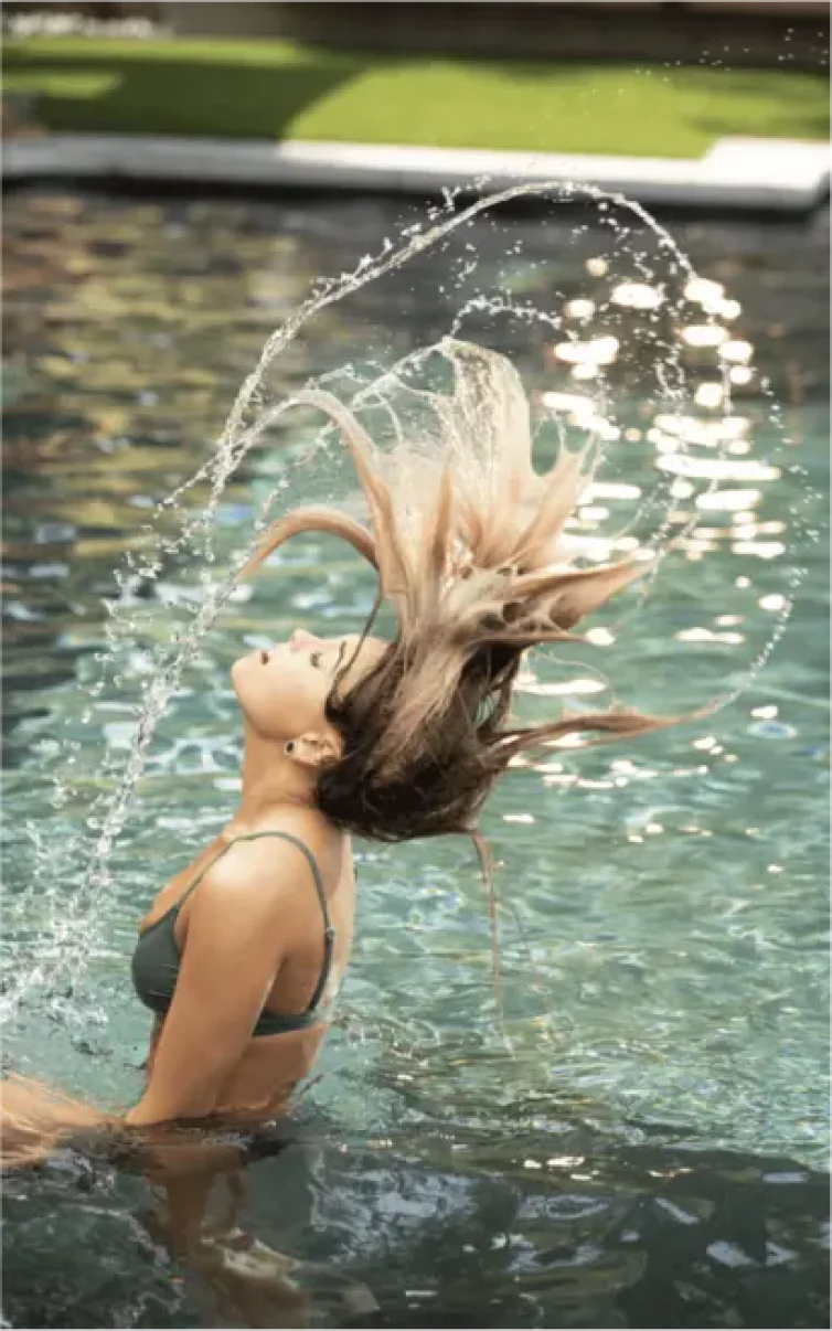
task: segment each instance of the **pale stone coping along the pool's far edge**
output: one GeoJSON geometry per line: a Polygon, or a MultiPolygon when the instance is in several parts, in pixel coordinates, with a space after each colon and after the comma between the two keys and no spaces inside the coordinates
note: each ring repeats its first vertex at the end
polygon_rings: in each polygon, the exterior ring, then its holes
{"type": "Polygon", "coordinates": [[[39,180],[403,196],[582,182],[654,206],[795,214],[832,194],[832,142],[727,137],[682,160],[144,134],[0,140],[0,184],[39,180]]]}

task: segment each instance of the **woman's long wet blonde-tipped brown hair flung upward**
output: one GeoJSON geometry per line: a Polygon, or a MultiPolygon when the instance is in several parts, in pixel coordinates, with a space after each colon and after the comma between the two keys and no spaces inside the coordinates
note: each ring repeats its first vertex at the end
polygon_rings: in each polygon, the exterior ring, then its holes
{"type": "Polygon", "coordinates": [[[575,640],[575,626],[646,566],[571,567],[563,532],[591,479],[588,450],[562,450],[538,474],[528,401],[511,363],[459,341],[439,350],[454,389],[433,395],[438,429],[389,451],[330,393],[297,394],[339,426],[369,524],[333,506],[297,508],[265,531],[242,570],[253,572],[304,531],[341,536],[377,570],[375,611],[394,607],[395,634],[349,691],[343,672],[334,681],[326,711],[343,749],[321,771],[317,800],[333,823],[378,841],[471,835],[494,783],[526,749],[672,724],[630,709],[511,724],[523,652],[575,640]]]}

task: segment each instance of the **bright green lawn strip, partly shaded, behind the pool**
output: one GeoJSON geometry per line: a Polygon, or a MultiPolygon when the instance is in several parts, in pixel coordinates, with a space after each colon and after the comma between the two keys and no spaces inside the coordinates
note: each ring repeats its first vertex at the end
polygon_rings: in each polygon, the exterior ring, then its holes
{"type": "Polygon", "coordinates": [[[49,129],[698,157],[832,140],[832,77],[430,60],[272,41],[0,40],[0,96],[49,129]]]}

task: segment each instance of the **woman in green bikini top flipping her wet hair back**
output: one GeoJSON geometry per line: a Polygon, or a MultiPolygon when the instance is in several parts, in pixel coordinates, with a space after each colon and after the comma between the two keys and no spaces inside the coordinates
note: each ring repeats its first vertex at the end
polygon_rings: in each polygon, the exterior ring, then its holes
{"type": "Polygon", "coordinates": [[[455,385],[435,399],[433,441],[383,453],[337,399],[298,395],[341,426],[369,524],[298,510],[266,532],[244,574],[298,532],[338,535],[377,570],[377,610],[394,610],[394,632],[298,630],[234,664],[240,808],[162,889],[133,957],[138,997],[156,1014],[145,1091],[117,1118],[12,1078],[0,1087],[8,1158],[84,1125],[280,1117],[314,1063],[349,961],[350,835],[466,833],[486,864],[475,819],[518,753],[666,724],[628,711],[510,724],[523,652],[571,638],[644,566],[570,567],[563,528],[588,480],[586,457],[564,453],[538,475],[509,362],[459,342],[442,350],[455,385]]]}

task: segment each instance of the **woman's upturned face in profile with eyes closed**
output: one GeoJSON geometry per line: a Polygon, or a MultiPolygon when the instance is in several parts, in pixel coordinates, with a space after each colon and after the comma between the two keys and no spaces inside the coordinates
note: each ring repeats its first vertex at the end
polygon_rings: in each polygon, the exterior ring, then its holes
{"type": "Polygon", "coordinates": [[[315,638],[297,628],[288,643],[241,656],[232,684],[248,725],[265,740],[290,740],[327,728],[326,699],[345,662],[342,687],[349,691],[379,660],[386,643],[367,638],[355,655],[358,636],[315,638]]]}

